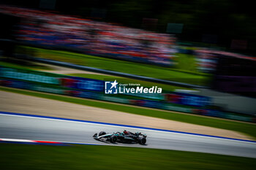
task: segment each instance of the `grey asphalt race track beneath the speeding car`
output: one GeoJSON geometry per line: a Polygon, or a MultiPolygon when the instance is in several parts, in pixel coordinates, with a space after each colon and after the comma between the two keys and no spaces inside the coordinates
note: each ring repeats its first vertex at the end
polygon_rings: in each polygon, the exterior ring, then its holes
{"type": "Polygon", "coordinates": [[[211,136],[154,131],[143,128],[129,128],[118,125],[56,120],[42,117],[0,114],[0,138],[32,139],[55,142],[107,144],[92,138],[99,131],[140,131],[148,135],[146,145],[110,144],[114,146],[146,147],[165,150],[208,152],[221,155],[235,155],[256,158],[256,142],[222,139],[211,136]]]}

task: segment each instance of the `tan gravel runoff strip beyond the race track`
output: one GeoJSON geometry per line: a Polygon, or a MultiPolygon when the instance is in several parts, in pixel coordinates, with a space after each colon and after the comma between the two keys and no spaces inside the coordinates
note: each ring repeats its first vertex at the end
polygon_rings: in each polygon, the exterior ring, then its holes
{"type": "Polygon", "coordinates": [[[124,125],[137,125],[148,128],[161,128],[171,131],[185,131],[197,134],[224,136],[237,139],[252,140],[249,136],[236,131],[220,128],[211,128],[203,125],[181,123],[174,120],[165,120],[156,117],[134,115],[97,107],[87,107],[64,101],[26,96],[0,90],[0,111],[17,112],[31,115],[45,115],[64,117],[78,120],[99,121],[105,123],[118,123],[124,125]]]}

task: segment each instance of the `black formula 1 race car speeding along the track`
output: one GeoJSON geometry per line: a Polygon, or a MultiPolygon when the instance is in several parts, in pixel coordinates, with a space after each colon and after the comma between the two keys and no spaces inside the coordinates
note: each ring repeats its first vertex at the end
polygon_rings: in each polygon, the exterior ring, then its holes
{"type": "Polygon", "coordinates": [[[139,132],[133,134],[132,132],[124,130],[124,132],[116,132],[112,134],[107,134],[105,131],[99,132],[99,135],[94,134],[94,139],[101,142],[111,142],[111,143],[139,143],[146,144],[146,134],[141,134],[139,132]]]}

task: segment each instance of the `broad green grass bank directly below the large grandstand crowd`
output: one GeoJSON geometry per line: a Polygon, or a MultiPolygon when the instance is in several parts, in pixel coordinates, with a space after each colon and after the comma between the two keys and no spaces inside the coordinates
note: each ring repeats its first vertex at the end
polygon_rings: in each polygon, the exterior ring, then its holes
{"type": "MultiPolygon", "coordinates": [[[[137,74],[146,77],[154,77],[163,80],[172,80],[177,82],[186,82],[195,85],[204,85],[210,77],[208,74],[192,72],[181,72],[177,69],[171,69],[161,66],[152,66],[143,63],[133,63],[129,61],[119,61],[110,58],[101,58],[92,55],[71,53],[61,50],[45,50],[34,47],[23,47],[26,50],[33,50],[34,55],[40,58],[48,58],[56,61],[65,61],[69,63],[91,66],[99,69],[107,69],[116,72],[137,74]]],[[[189,64],[189,63],[188,63],[189,64]]]]}

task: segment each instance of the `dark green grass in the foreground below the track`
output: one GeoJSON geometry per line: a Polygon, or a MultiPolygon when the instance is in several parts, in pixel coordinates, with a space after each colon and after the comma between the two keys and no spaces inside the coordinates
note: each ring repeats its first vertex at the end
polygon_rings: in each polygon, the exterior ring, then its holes
{"type": "Polygon", "coordinates": [[[255,158],[134,147],[0,144],[1,169],[255,169],[255,158]]]}

